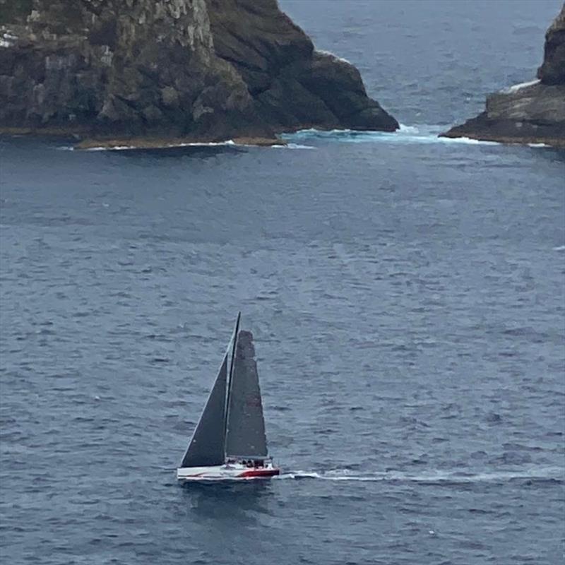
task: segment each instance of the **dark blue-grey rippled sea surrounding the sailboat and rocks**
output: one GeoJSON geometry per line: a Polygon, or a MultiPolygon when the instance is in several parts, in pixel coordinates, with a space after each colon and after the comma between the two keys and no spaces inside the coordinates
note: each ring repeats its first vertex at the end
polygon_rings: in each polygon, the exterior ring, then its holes
{"type": "Polygon", "coordinates": [[[281,0],[400,133],[3,138],[0,561],[557,565],[565,153],[439,140],[559,0],[281,0]],[[174,469],[237,311],[270,482],[174,469]]]}

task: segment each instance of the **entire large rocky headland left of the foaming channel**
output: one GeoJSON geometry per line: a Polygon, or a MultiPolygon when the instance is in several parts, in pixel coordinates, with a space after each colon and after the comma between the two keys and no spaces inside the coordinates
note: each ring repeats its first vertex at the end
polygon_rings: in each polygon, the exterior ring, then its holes
{"type": "Polygon", "coordinates": [[[0,0],[0,131],[221,141],[394,131],[276,0],[0,0]]]}

